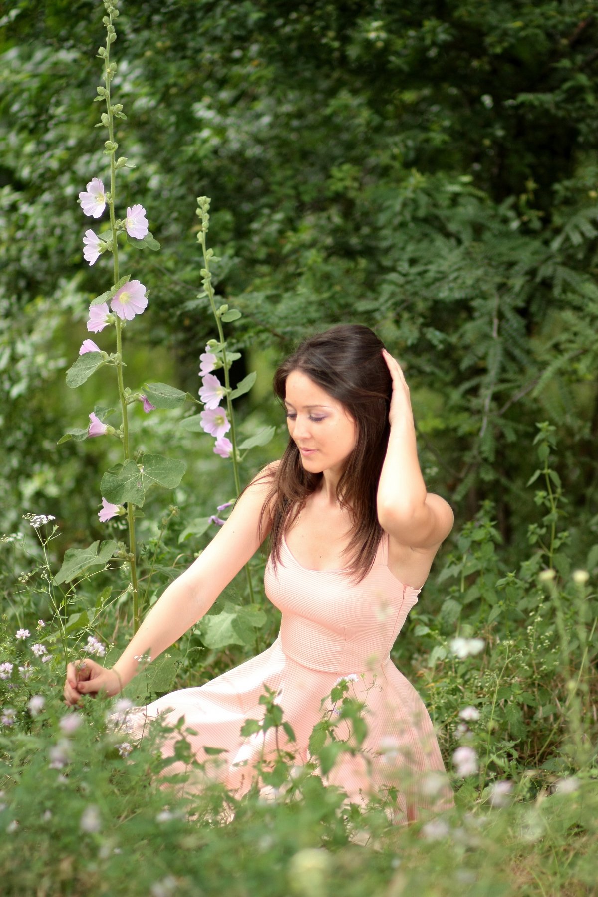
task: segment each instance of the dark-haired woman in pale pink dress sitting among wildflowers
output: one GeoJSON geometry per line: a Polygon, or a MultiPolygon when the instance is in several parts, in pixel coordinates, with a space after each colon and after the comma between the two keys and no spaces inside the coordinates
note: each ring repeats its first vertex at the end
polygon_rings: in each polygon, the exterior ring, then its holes
{"type": "MultiPolygon", "coordinates": [[[[364,753],[343,754],[327,780],[360,800],[402,776],[399,804],[408,820],[418,806],[453,806],[428,711],[389,658],[454,519],[446,501],[426,491],[403,371],[368,327],[333,327],[282,363],[274,390],[290,433],[282,459],[247,486],[115,666],[68,666],[65,699],[117,694],[140,658],[158,657],[202,618],[269,535],[264,584],[282,611],[278,638],[212,682],[135,709],[132,734],[141,736],[159,713],[171,725],[184,715],[197,760],[206,759],[204,746],[226,749],[221,778],[243,793],[252,763],[273,746],[272,729],[265,744],[263,736],[239,733],[246,718],[263,712],[264,685],[294,730],[298,762],[307,762],[322,699],[347,677],[351,695],[366,702],[368,735],[364,753]]],[[[172,736],[162,753],[172,755],[174,745],[172,736]]]]}

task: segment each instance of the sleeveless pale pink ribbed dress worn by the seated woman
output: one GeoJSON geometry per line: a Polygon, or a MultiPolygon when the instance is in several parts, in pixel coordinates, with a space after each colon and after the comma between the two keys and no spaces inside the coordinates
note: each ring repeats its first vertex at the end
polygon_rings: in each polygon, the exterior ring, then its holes
{"type": "MultiPolygon", "coordinates": [[[[295,745],[288,745],[279,733],[279,746],[294,749],[300,765],[309,760],[308,740],[316,722],[323,712],[331,716],[338,710],[330,699],[323,706],[323,699],[346,676],[349,695],[365,702],[368,734],[360,753],[342,754],[327,783],[340,786],[357,802],[393,788],[397,822],[417,818],[421,809],[436,813],[454,806],[428,710],[389,656],[420,589],[394,577],[387,553],[385,537],[374,566],[355,584],[343,570],[302,567],[283,541],[281,563],[274,572],[269,560],[264,576],[265,593],[282,612],[273,645],[201,687],[171,692],[146,708],[134,708],[127,716],[128,737],[143,736],[147,720],[158,714],[169,725],[184,716],[197,760],[208,759],[204,746],[226,749],[226,762],[216,774],[242,794],[254,763],[275,746],[273,729],[265,739],[261,733],[245,738],[239,734],[246,718],[263,716],[258,700],[264,684],[277,692],[283,718],[296,736],[295,745]]],[[[161,746],[165,757],[174,752],[175,736],[161,746]]],[[[337,736],[351,739],[345,720],[337,736]]],[[[173,763],[165,774],[182,770],[173,763]]]]}

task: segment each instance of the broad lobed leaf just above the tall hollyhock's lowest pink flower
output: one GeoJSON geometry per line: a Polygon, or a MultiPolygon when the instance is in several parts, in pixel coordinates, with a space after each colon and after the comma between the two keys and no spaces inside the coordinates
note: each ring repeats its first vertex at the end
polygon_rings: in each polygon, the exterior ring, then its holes
{"type": "Polygon", "coordinates": [[[186,471],[185,461],[163,455],[144,455],[143,463],[126,461],[104,474],[100,483],[101,494],[114,504],[130,501],[138,508],[143,506],[145,492],[152,486],[175,489],[186,471]]]}

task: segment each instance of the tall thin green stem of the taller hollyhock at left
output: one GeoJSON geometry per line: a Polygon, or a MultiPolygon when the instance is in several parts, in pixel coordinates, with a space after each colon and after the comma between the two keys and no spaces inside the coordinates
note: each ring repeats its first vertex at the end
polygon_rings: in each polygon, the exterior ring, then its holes
{"type": "MultiPolygon", "coordinates": [[[[112,13],[109,16],[109,24],[112,24],[112,13]]],[[[111,74],[108,72],[108,66],[110,64],[110,41],[108,39],[108,35],[106,38],[106,56],[104,57],[104,66],[106,71],[106,108],[108,113],[108,139],[111,144],[114,144],[114,117],[112,115],[112,105],[110,102],[110,81],[111,74]]],[[[112,258],[114,262],[114,283],[118,283],[118,234],[117,234],[117,222],[116,216],[114,213],[114,196],[116,190],[117,183],[117,163],[115,161],[115,153],[116,149],[112,149],[110,152],[110,199],[108,201],[108,207],[110,210],[110,231],[112,233],[112,258]]],[[[120,407],[122,413],[122,421],[123,421],[123,452],[125,455],[125,460],[128,461],[130,459],[130,451],[129,451],[129,426],[128,426],[128,417],[126,411],[126,397],[125,397],[125,383],[123,380],[123,341],[122,341],[122,324],[120,318],[115,315],[115,327],[117,328],[117,381],[118,381],[118,395],[120,396],[120,407]]],[[[136,632],[139,629],[139,587],[137,584],[137,564],[136,564],[136,544],[135,544],[135,521],[134,521],[134,510],[133,504],[130,501],[126,502],[126,519],[129,528],[129,553],[128,553],[128,561],[131,568],[131,583],[133,586],[133,631],[136,632]]]]}

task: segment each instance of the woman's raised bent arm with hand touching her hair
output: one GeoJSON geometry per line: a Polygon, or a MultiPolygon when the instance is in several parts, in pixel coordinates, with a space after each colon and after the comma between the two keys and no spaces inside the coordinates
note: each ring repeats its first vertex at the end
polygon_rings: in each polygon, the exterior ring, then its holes
{"type": "Polygon", "coordinates": [[[377,491],[380,526],[403,545],[431,548],[453,528],[453,510],[431,494],[421,475],[409,387],[398,361],[384,350],[393,378],[390,437],[377,491]]]}

